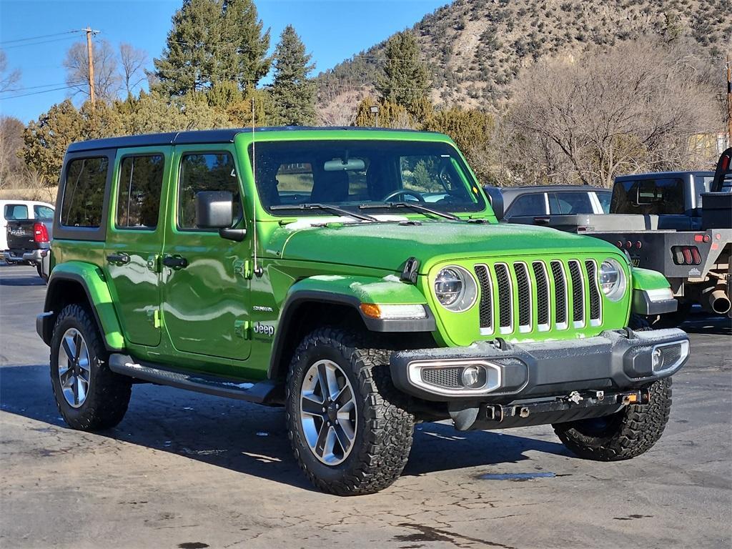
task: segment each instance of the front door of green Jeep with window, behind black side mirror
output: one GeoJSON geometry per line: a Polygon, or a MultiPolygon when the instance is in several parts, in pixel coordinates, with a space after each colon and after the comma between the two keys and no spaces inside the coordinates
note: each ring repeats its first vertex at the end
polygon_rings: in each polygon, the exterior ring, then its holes
{"type": "MultiPolygon", "coordinates": [[[[236,228],[244,228],[242,184],[234,146],[176,146],[175,193],[163,247],[163,325],[176,351],[247,359],[250,353],[248,259],[251,238],[223,239],[195,225],[195,195],[234,195],[236,228]]],[[[203,358],[203,357],[201,357],[203,358]]]]}

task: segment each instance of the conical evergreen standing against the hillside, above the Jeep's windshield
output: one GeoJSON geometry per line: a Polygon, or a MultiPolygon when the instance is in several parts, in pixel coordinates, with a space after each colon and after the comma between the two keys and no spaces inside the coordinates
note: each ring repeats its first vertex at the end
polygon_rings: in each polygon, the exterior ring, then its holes
{"type": "Polygon", "coordinates": [[[397,32],[386,42],[384,53],[384,75],[378,78],[376,92],[381,102],[396,103],[413,113],[430,87],[430,73],[419,59],[417,39],[410,31],[397,32]]]}

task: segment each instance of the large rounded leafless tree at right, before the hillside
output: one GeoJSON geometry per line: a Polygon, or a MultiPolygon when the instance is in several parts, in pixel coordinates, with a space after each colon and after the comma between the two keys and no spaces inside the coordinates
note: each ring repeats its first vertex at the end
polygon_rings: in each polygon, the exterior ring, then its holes
{"type": "MultiPolygon", "coordinates": [[[[695,136],[721,127],[703,74],[648,41],[545,61],[518,80],[507,126],[539,147],[529,155],[534,180],[610,186],[619,173],[695,168],[708,160],[692,146],[695,136]]],[[[519,171],[527,168],[520,154],[519,171]]]]}

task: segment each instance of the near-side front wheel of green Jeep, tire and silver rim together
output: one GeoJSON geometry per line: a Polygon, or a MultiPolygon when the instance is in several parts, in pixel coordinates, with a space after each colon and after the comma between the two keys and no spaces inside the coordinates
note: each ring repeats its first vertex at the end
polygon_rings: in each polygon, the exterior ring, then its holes
{"type": "Polygon", "coordinates": [[[285,397],[288,436],[316,488],[356,496],[399,478],[414,417],[395,402],[388,365],[388,351],[346,330],[317,329],[296,349],[285,397]]]}

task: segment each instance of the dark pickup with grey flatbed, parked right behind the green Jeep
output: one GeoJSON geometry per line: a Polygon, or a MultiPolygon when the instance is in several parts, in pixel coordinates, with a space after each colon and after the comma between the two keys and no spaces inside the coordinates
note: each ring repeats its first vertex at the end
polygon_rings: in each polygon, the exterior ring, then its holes
{"type": "MultiPolygon", "coordinates": [[[[594,236],[624,250],[633,266],[662,272],[679,301],[676,313],[662,318],[665,324],[683,321],[695,304],[710,313],[732,315],[732,186],[725,184],[729,160],[724,164],[730,150],[725,154],[716,177],[711,171],[616,177],[609,214],[538,215],[521,217],[518,223],[594,236]]],[[[496,190],[486,192],[492,203],[500,200],[496,190]]],[[[498,217],[504,217],[500,207],[498,217]]]]}

